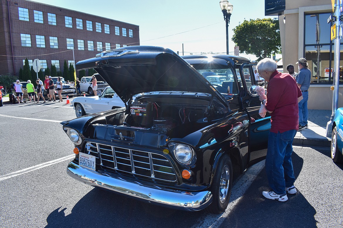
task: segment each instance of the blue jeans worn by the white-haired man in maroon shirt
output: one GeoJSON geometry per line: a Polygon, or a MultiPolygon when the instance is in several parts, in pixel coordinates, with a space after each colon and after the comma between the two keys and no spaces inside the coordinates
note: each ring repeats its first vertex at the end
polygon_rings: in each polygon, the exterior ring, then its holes
{"type": "Polygon", "coordinates": [[[296,132],[296,130],[283,133],[269,132],[265,171],[267,172],[269,186],[279,195],[286,194],[285,188],[294,185],[295,178],[291,155],[296,132]]]}

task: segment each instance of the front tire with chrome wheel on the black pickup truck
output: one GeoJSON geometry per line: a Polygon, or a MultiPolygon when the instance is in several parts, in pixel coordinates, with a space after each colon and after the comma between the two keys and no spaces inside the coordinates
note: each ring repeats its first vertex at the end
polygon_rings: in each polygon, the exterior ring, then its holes
{"type": "Polygon", "coordinates": [[[212,214],[223,213],[230,200],[232,188],[232,162],[229,156],[223,155],[214,174],[211,192],[212,203],[204,210],[212,214]]]}

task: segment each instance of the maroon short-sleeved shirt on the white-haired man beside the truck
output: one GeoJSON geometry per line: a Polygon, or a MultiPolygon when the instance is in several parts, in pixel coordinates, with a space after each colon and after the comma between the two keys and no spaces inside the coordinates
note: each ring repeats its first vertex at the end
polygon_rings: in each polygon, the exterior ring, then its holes
{"type": "Polygon", "coordinates": [[[267,102],[265,108],[271,116],[271,129],[273,133],[298,130],[299,110],[298,97],[301,91],[295,79],[288,73],[275,70],[268,83],[267,102]]]}

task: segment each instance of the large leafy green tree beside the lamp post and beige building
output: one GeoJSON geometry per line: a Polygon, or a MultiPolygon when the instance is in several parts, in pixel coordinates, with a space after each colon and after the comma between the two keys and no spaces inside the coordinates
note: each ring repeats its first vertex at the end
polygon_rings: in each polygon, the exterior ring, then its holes
{"type": "Polygon", "coordinates": [[[281,53],[280,27],[277,18],[244,20],[233,29],[232,41],[239,51],[253,54],[258,61],[270,57],[271,53],[281,53]]]}

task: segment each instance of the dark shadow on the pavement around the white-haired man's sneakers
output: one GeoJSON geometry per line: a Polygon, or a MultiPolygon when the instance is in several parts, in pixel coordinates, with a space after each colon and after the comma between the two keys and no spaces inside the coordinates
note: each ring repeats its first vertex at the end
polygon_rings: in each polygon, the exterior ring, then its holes
{"type": "MultiPolygon", "coordinates": [[[[293,153],[292,160],[297,178],[304,161],[296,153],[293,153]]],[[[316,227],[316,210],[301,192],[288,194],[288,201],[279,202],[262,196],[262,191],[269,189],[263,169],[220,227],[316,227]]]]}

